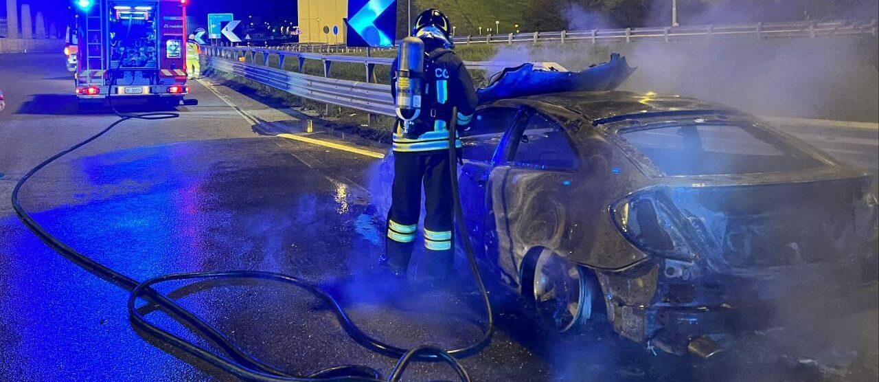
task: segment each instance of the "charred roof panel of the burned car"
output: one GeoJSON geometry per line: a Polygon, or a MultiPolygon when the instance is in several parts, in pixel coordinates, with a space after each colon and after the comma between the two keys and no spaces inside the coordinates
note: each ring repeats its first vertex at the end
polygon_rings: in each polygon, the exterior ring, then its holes
{"type": "MultiPolygon", "coordinates": [[[[614,119],[624,115],[673,113],[705,110],[707,113],[744,114],[715,102],[655,92],[558,92],[518,98],[563,107],[589,121],[614,119]]],[[[535,106],[541,109],[539,105],[535,106]]]]}

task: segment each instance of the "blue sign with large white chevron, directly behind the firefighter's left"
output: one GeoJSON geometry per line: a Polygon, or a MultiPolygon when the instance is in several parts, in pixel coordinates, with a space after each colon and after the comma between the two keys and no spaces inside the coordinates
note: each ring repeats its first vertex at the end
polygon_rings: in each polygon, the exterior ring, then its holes
{"type": "Polygon", "coordinates": [[[393,47],[396,0],[349,0],[347,23],[349,47],[393,47]]]}

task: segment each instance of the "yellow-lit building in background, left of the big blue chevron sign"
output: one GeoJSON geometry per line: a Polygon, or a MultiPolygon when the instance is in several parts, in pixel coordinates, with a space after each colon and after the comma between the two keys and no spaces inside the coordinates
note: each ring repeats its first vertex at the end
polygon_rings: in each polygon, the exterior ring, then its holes
{"type": "Polygon", "coordinates": [[[348,0],[299,0],[299,42],[345,43],[348,0]]]}

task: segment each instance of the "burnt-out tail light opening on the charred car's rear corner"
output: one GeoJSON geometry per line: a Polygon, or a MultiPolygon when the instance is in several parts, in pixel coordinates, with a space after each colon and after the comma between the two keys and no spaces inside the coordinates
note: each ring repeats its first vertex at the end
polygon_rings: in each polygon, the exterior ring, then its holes
{"type": "Polygon", "coordinates": [[[614,204],[611,215],[617,229],[644,253],[693,261],[694,252],[679,231],[679,222],[655,196],[630,195],[614,204]]]}

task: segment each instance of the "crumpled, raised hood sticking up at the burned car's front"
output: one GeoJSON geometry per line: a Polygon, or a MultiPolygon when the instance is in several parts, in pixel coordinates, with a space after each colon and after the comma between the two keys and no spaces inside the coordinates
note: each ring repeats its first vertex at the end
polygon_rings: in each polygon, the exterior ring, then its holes
{"type": "Polygon", "coordinates": [[[614,90],[622,84],[635,68],[628,66],[626,58],[614,53],[609,62],[592,65],[580,72],[535,68],[526,63],[508,68],[493,77],[487,87],[476,91],[479,103],[495,99],[548,94],[555,92],[599,92],[614,90]]]}

